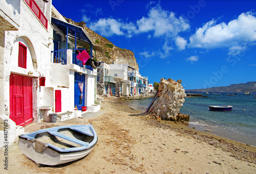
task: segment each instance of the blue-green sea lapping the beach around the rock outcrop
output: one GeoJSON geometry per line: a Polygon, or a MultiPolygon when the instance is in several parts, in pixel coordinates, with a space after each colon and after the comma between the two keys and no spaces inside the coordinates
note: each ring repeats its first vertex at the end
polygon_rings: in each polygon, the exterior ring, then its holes
{"type": "MultiPolygon", "coordinates": [[[[190,92],[199,93],[199,92],[190,92]]],[[[220,95],[201,92],[207,97],[185,97],[180,113],[188,114],[189,121],[184,124],[199,131],[256,146],[256,98],[254,94],[220,95]],[[232,111],[209,111],[209,105],[233,106],[232,111]]],[[[230,94],[230,93],[229,93],[230,94]]],[[[255,93],[256,94],[256,93],[255,93]]],[[[145,111],[153,98],[129,101],[129,106],[145,111]]]]}

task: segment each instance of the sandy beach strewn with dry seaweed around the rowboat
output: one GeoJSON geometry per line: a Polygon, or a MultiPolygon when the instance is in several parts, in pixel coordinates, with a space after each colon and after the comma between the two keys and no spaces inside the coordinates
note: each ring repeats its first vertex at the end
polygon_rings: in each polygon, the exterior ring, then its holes
{"type": "Polygon", "coordinates": [[[188,129],[178,122],[143,115],[117,97],[104,98],[96,118],[31,123],[25,132],[92,123],[98,142],[86,157],[38,167],[18,149],[8,148],[8,170],[1,153],[0,173],[256,173],[256,147],[188,129]]]}

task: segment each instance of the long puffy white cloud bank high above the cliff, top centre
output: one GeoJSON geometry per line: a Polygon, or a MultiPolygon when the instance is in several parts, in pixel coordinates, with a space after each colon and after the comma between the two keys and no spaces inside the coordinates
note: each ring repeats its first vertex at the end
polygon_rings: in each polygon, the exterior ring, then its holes
{"type": "MultiPolygon", "coordinates": [[[[154,37],[164,35],[170,38],[176,37],[180,32],[189,29],[190,26],[184,18],[177,18],[173,12],[163,10],[157,4],[150,9],[146,17],[143,16],[136,23],[109,17],[92,22],[89,28],[103,36],[125,35],[132,37],[134,34],[154,32],[154,37]]],[[[151,34],[148,37],[150,38],[151,34]]]]}

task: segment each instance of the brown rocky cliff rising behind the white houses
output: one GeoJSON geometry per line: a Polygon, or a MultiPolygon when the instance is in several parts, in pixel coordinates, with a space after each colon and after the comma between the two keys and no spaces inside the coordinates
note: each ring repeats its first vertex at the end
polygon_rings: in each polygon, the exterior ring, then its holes
{"type": "Polygon", "coordinates": [[[102,52],[96,52],[97,61],[105,62],[107,64],[112,64],[113,61],[115,61],[116,64],[129,64],[129,66],[139,71],[138,63],[136,62],[136,58],[134,57],[134,53],[132,51],[115,46],[107,38],[100,36],[99,34],[86,27],[86,23],[83,21],[75,22],[72,19],[66,17],[65,19],[69,23],[82,27],[84,30],[86,30],[92,41],[102,47],[102,52]]]}

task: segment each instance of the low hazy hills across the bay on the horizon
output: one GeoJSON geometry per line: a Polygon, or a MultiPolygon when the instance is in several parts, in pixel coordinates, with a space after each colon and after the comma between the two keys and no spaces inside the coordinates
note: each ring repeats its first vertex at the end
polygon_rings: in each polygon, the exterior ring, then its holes
{"type": "MultiPolygon", "coordinates": [[[[188,90],[186,90],[188,91],[188,90]]],[[[256,92],[256,82],[232,84],[229,86],[211,87],[206,89],[190,89],[190,91],[206,92],[256,92]]]]}

